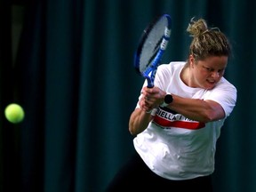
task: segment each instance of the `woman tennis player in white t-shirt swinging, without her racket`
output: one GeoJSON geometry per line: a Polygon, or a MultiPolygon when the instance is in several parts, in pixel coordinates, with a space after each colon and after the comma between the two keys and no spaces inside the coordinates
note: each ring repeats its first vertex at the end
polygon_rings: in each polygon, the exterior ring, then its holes
{"type": "Polygon", "coordinates": [[[107,191],[212,191],[216,142],[236,106],[236,87],[223,76],[230,44],[204,19],[188,24],[188,60],[162,64],[155,86],[142,86],[129,131],[136,153],[107,191]]]}

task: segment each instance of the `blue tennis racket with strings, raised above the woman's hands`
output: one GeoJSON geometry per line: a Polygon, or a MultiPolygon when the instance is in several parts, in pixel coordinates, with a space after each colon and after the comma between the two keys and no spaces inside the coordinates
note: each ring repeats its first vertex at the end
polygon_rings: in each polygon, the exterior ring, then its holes
{"type": "Polygon", "coordinates": [[[134,67],[148,81],[148,87],[154,87],[156,69],[171,36],[172,20],[164,14],[153,20],[144,29],[140,43],[135,52],[134,67]]]}

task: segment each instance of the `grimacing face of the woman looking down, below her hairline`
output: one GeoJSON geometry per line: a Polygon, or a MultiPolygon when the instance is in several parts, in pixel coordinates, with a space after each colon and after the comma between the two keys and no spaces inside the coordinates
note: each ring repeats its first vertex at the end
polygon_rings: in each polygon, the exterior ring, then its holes
{"type": "Polygon", "coordinates": [[[212,89],[224,75],[228,64],[227,56],[212,56],[204,60],[195,60],[189,57],[192,71],[191,82],[193,86],[204,89],[212,89]]]}

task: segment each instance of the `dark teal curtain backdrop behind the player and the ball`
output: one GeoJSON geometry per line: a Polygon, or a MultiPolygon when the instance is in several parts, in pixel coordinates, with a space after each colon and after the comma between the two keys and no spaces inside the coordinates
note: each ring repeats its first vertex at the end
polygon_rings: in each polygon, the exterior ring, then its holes
{"type": "Polygon", "coordinates": [[[104,191],[134,151],[140,34],[168,13],[165,63],[187,60],[192,17],[233,45],[225,77],[238,97],[218,141],[214,191],[256,191],[255,8],[253,0],[0,0],[0,190],[104,191]],[[25,109],[21,124],[4,118],[11,102],[25,109]]]}

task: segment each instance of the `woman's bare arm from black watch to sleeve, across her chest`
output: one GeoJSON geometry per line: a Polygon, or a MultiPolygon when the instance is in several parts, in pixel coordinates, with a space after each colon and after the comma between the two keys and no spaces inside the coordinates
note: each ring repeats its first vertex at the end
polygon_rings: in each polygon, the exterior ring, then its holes
{"type": "Polygon", "coordinates": [[[198,122],[211,122],[225,117],[220,104],[212,100],[182,98],[172,95],[173,102],[168,106],[177,113],[198,122]]]}

